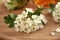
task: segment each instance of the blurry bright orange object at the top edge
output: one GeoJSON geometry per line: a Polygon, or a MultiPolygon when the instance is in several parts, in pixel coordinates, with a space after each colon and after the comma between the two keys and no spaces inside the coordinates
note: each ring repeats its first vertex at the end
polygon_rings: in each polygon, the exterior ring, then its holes
{"type": "Polygon", "coordinates": [[[34,3],[37,7],[44,6],[45,8],[49,7],[50,4],[56,4],[57,2],[55,0],[34,0],[34,3]]]}

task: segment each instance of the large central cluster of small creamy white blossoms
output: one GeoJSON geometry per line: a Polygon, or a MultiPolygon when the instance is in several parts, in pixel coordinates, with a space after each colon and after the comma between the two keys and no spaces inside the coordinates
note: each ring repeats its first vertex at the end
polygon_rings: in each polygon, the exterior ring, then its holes
{"type": "Polygon", "coordinates": [[[21,14],[19,14],[14,21],[14,28],[17,32],[23,31],[30,33],[40,28],[44,28],[44,24],[47,23],[47,20],[43,14],[40,14],[39,16],[32,15],[31,17],[28,17],[28,12],[34,13],[33,9],[26,8],[26,11],[23,11],[21,14]]]}

